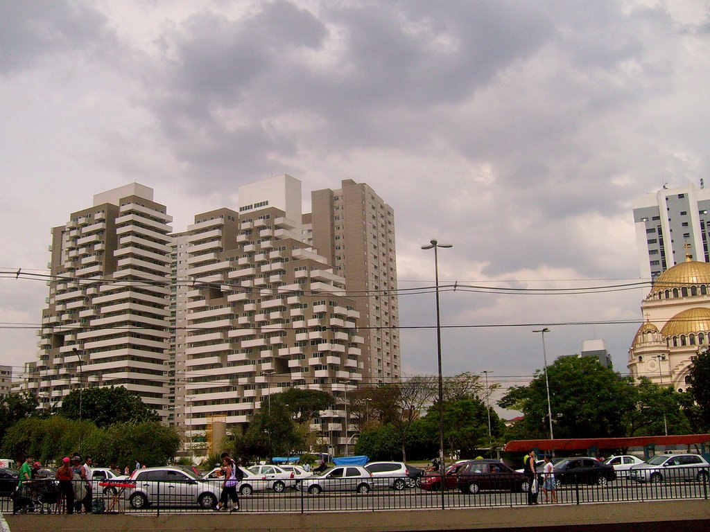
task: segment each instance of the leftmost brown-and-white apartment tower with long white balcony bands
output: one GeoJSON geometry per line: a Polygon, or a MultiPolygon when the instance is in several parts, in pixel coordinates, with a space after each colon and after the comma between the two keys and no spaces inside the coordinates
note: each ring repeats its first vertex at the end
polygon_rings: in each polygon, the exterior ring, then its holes
{"type": "Polygon", "coordinates": [[[72,389],[124,386],[165,418],[172,218],[138,183],[94,196],[52,229],[40,407],[72,389]]]}

